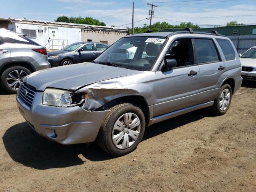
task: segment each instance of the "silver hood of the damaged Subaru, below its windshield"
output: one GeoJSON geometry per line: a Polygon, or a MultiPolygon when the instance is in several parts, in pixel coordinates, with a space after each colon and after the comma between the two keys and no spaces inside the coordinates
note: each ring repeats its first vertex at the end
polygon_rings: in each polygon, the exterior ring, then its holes
{"type": "Polygon", "coordinates": [[[96,63],[81,63],[40,70],[26,76],[24,82],[40,91],[44,91],[47,87],[77,90],[88,84],[138,73],[141,71],[96,63]]]}

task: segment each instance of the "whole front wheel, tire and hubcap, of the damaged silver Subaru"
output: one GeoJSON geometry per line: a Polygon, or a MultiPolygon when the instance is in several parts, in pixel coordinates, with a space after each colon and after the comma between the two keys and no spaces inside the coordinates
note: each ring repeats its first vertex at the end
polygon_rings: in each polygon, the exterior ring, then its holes
{"type": "MultiPolygon", "coordinates": [[[[132,126],[132,123],[129,124],[132,126]]],[[[117,104],[110,108],[110,112],[104,119],[97,136],[97,142],[107,153],[113,156],[122,156],[137,148],[138,144],[142,140],[144,131],[145,117],[142,110],[130,103],[117,104]],[[128,117],[128,119],[131,117],[130,122],[134,122],[134,128],[125,126],[125,117],[128,117]],[[136,118],[138,118],[139,121],[136,118]],[[120,127],[115,126],[117,125],[118,120],[123,124],[122,126],[118,124],[120,127]],[[117,127],[118,129],[123,129],[123,131],[117,130],[117,127]],[[134,133],[136,133],[137,137],[134,133]],[[121,138],[121,140],[118,142],[119,139],[116,138],[121,138]],[[127,141],[127,138],[128,142],[124,142],[125,140],[127,141]],[[134,140],[134,138],[136,139],[134,140]],[[114,140],[116,140],[116,144],[114,144],[114,140]]]]}

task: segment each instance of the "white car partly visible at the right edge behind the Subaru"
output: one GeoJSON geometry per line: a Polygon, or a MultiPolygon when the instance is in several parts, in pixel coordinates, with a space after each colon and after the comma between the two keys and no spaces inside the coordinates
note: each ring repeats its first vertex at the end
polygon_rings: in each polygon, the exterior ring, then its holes
{"type": "Polygon", "coordinates": [[[242,78],[244,80],[256,81],[256,46],[242,54],[240,61],[242,65],[242,78]]]}

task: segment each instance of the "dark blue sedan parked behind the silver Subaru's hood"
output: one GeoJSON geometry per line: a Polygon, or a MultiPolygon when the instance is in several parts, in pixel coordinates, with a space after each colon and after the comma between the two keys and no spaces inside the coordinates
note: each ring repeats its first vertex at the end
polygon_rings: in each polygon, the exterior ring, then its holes
{"type": "Polygon", "coordinates": [[[48,52],[48,61],[52,67],[91,62],[108,47],[105,43],[77,42],[62,50],[48,52]]]}

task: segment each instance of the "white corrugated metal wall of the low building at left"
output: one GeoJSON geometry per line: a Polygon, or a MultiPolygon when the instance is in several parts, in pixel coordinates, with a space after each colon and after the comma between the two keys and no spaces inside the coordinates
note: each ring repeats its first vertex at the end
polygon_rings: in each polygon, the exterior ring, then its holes
{"type": "Polygon", "coordinates": [[[80,28],[69,28],[69,27],[55,27],[55,26],[44,26],[37,24],[24,24],[15,23],[9,25],[9,30],[15,25],[16,32],[22,32],[22,29],[34,29],[36,30],[36,38],[31,38],[38,44],[45,46],[49,40],[48,28],[58,28],[58,39],[68,40],[68,44],[81,41],[81,29],[80,28]],[[42,34],[38,34],[38,30],[43,30],[42,34]]]}

